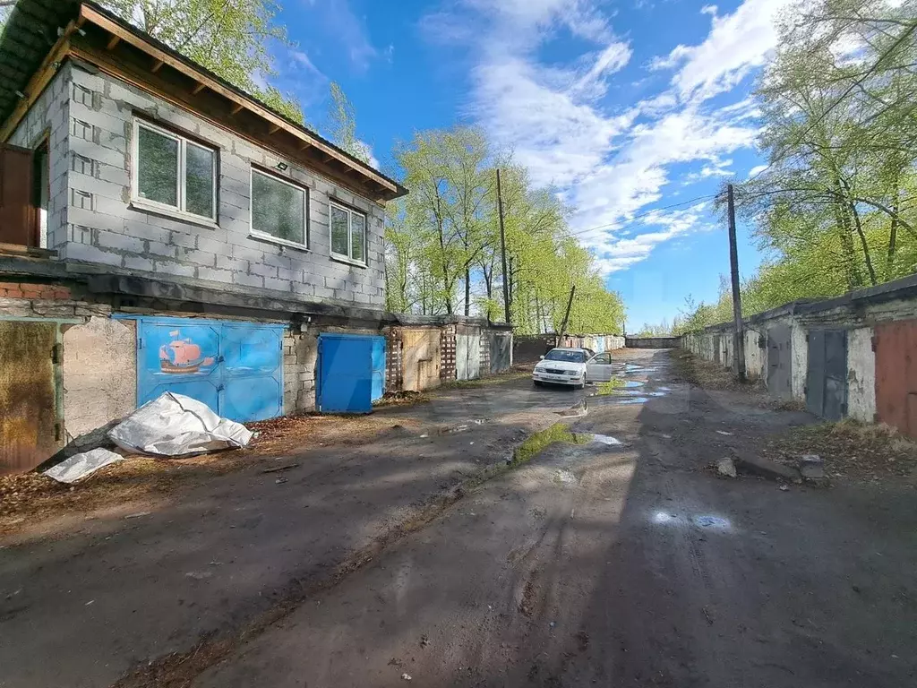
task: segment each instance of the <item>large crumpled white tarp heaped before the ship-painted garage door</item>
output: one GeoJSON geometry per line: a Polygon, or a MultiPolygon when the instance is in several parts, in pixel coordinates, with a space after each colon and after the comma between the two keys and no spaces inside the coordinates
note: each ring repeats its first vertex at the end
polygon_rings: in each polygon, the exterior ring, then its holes
{"type": "Polygon", "coordinates": [[[208,405],[190,396],[166,392],[127,416],[108,437],[128,451],[187,456],[245,447],[252,433],[240,423],[217,416],[208,405]]]}

